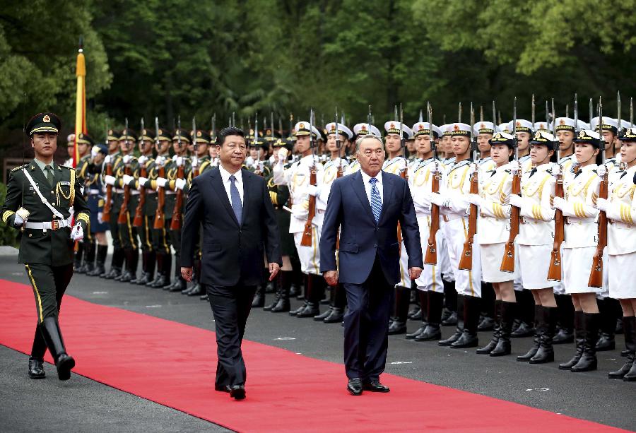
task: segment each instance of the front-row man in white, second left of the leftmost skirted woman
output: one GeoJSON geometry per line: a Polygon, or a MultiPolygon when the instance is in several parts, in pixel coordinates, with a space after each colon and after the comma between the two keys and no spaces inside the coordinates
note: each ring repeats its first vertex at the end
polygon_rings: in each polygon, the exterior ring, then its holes
{"type": "MultiPolygon", "coordinates": [[[[431,206],[429,197],[432,192],[433,180],[437,177],[439,181],[444,172],[444,165],[435,158],[435,153],[431,146],[436,143],[442,131],[435,125],[420,121],[413,125],[415,135],[416,152],[418,165],[413,167],[408,176],[408,185],[413,196],[420,227],[420,239],[422,240],[423,256],[427,256],[428,239],[431,232],[431,206]],[[431,143],[432,141],[432,143],[431,143]]],[[[437,221],[439,227],[439,221],[437,221]]],[[[424,264],[420,277],[416,280],[418,297],[420,299],[420,309],[422,310],[422,326],[413,332],[406,334],[406,338],[416,341],[439,340],[442,336],[440,326],[442,323],[442,307],[444,303],[444,286],[442,285],[442,231],[435,232],[437,248],[435,257],[437,264],[424,264]]]]}

